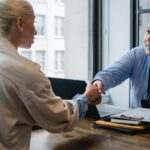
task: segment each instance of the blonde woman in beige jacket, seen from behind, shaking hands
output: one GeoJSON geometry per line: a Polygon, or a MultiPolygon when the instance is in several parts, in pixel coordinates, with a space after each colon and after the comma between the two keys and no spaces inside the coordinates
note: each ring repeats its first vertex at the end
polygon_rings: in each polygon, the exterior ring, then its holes
{"type": "Polygon", "coordinates": [[[26,0],[0,1],[0,150],[28,150],[32,126],[70,131],[87,103],[99,103],[96,86],[73,100],[56,97],[40,66],[20,56],[34,42],[34,11],[26,0]]]}

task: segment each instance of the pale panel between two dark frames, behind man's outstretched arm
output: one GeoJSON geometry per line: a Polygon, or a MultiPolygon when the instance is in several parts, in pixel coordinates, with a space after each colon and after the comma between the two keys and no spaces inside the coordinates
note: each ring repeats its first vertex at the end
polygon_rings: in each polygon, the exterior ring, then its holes
{"type": "MultiPolygon", "coordinates": [[[[104,0],[103,68],[130,49],[130,0],[104,0]]],[[[129,106],[129,81],[110,89],[111,102],[129,106]]]]}

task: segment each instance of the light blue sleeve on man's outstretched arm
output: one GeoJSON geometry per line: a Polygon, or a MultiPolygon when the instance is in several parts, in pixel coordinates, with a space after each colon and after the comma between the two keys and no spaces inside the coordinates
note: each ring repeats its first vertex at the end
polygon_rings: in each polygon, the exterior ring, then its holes
{"type": "Polygon", "coordinates": [[[134,64],[134,50],[130,50],[111,67],[98,72],[94,79],[101,80],[104,83],[105,90],[119,85],[132,74],[134,64]]]}

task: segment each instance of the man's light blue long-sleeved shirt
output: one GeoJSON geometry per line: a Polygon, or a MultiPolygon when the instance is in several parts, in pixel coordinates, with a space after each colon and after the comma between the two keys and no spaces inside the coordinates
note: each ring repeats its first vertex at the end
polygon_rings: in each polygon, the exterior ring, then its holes
{"type": "Polygon", "coordinates": [[[111,67],[98,72],[94,80],[101,80],[105,90],[108,90],[129,78],[131,80],[131,106],[140,107],[140,101],[147,93],[149,60],[150,56],[146,55],[143,46],[135,47],[111,67]]]}

